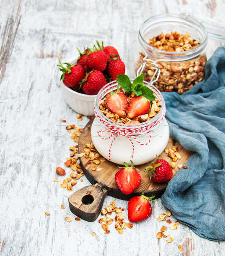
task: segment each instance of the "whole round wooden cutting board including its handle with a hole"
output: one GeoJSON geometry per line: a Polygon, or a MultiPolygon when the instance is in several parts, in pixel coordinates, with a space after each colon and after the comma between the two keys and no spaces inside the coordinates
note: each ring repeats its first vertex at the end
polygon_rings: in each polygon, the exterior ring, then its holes
{"type": "MultiPolygon", "coordinates": [[[[78,143],[79,153],[84,152],[86,144],[92,142],[92,122],[93,119],[87,123],[80,135],[78,143]]],[[[176,166],[179,164],[184,164],[193,154],[193,152],[187,151],[179,144],[179,142],[176,142],[172,137],[170,137],[167,148],[172,148],[173,146],[177,146],[179,148],[179,154],[181,155],[181,159],[176,161],[176,166]]],[[[163,158],[169,163],[172,162],[172,159],[168,157],[165,152],[162,152],[159,158],[163,158]]],[[[91,167],[95,164],[90,163],[89,159],[84,156],[80,157],[80,164],[84,175],[87,177],[90,183],[93,184],[93,186],[84,187],[73,193],[69,197],[69,207],[75,215],[87,221],[94,221],[98,217],[104,202],[104,198],[107,194],[115,198],[129,200],[133,196],[140,195],[141,192],[145,190],[144,195],[155,195],[155,198],[160,198],[167,187],[167,183],[159,184],[149,181],[149,175],[144,172],[144,169],[150,165],[150,162],[136,166],[139,169],[139,174],[141,175],[141,184],[130,195],[124,195],[115,183],[115,174],[119,170],[117,164],[106,160],[105,162],[101,162],[99,165],[97,165],[97,168],[103,168],[101,171],[92,171],[91,167]]],[[[178,171],[179,169],[176,167],[173,169],[173,174],[178,171]]]]}

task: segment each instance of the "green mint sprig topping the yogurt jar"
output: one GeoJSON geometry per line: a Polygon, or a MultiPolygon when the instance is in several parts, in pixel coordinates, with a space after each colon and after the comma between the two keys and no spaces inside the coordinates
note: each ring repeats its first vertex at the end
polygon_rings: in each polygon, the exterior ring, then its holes
{"type": "Polygon", "coordinates": [[[127,93],[133,92],[136,96],[143,96],[150,102],[156,99],[153,90],[143,83],[144,73],[136,77],[133,83],[131,83],[130,78],[127,75],[118,75],[116,81],[127,93]]]}

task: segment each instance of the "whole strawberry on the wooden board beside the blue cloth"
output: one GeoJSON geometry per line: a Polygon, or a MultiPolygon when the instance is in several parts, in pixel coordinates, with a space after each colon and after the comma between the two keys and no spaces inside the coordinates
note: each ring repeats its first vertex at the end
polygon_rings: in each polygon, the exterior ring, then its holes
{"type": "Polygon", "coordinates": [[[150,173],[149,178],[156,183],[168,182],[173,177],[173,171],[170,167],[170,164],[163,159],[156,159],[152,162],[152,166],[145,168],[146,173],[150,173]]]}

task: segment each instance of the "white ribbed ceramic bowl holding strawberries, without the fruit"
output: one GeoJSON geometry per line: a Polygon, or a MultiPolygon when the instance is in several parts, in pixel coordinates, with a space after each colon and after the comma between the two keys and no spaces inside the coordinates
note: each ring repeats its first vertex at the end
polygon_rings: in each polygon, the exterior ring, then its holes
{"type": "MultiPolygon", "coordinates": [[[[70,60],[69,63],[75,64],[78,57],[79,55],[70,60]]],[[[72,110],[85,116],[94,115],[94,103],[96,95],[78,93],[67,87],[65,84],[63,84],[63,82],[62,87],[66,103],[69,105],[70,108],[72,108],[72,110]]]]}

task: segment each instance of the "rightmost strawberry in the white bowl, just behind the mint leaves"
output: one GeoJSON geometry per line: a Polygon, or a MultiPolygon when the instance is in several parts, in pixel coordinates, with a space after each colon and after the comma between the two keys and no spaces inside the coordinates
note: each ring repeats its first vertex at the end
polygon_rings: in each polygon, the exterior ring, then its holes
{"type": "Polygon", "coordinates": [[[118,75],[125,73],[125,64],[118,57],[112,58],[107,65],[107,73],[112,81],[116,80],[118,75]]]}

